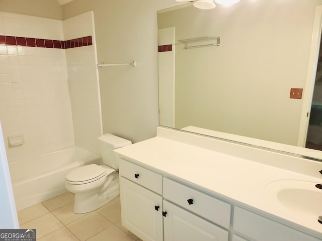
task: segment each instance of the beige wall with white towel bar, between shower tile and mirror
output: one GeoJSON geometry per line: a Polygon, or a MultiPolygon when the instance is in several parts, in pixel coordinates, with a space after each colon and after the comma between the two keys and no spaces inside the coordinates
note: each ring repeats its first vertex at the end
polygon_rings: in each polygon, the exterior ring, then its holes
{"type": "Polygon", "coordinates": [[[74,0],[63,18],[94,11],[98,62],[128,63],[99,69],[103,133],[139,142],[158,125],[156,11],[174,0],[74,0]]]}

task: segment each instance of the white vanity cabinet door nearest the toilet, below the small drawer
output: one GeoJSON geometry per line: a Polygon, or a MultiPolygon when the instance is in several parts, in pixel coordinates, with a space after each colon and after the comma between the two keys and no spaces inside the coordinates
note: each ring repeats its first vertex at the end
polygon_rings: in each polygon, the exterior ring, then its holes
{"type": "Polygon", "coordinates": [[[122,225],[144,241],[162,241],[162,197],[123,177],[120,194],[122,225]]]}

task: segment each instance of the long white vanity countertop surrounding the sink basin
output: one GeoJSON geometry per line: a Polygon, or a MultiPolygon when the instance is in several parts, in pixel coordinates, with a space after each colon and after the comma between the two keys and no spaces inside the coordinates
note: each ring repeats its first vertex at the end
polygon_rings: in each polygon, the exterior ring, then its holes
{"type": "MultiPolygon", "coordinates": [[[[187,182],[207,193],[239,206],[264,212],[277,221],[286,221],[284,223],[291,227],[322,237],[322,224],[317,222],[317,217],[322,215],[322,203],[321,213],[316,214],[316,217],[312,216],[314,220],[310,220],[309,216],[300,217],[276,201],[271,194],[272,188],[267,188],[270,183],[280,180],[301,180],[311,182],[314,186],[322,182],[322,176],[316,178],[306,175],[305,172],[294,172],[250,161],[238,157],[233,151],[234,148],[231,147],[232,154],[228,155],[157,136],[115,152],[164,176],[187,182]]],[[[263,152],[263,155],[266,153],[263,152]]],[[[307,161],[303,159],[303,162],[307,161]]],[[[317,165],[320,169],[316,172],[322,169],[322,163],[317,165]]],[[[276,184],[272,186],[276,188],[276,184]]]]}

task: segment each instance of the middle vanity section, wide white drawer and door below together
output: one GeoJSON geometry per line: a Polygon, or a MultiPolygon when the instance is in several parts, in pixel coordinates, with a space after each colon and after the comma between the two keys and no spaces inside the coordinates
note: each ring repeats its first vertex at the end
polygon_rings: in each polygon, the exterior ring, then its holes
{"type": "Polygon", "coordinates": [[[229,229],[229,204],[168,178],[163,197],[165,241],[228,241],[228,231],[212,222],[229,229]]]}

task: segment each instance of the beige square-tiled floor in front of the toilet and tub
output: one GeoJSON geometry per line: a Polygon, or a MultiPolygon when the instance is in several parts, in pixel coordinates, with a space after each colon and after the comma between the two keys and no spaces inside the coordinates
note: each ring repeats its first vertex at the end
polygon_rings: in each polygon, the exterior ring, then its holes
{"type": "Polygon", "coordinates": [[[73,201],[66,192],[18,211],[20,228],[36,228],[40,241],[141,241],[121,224],[120,197],[85,214],[73,213],[73,201]]]}

